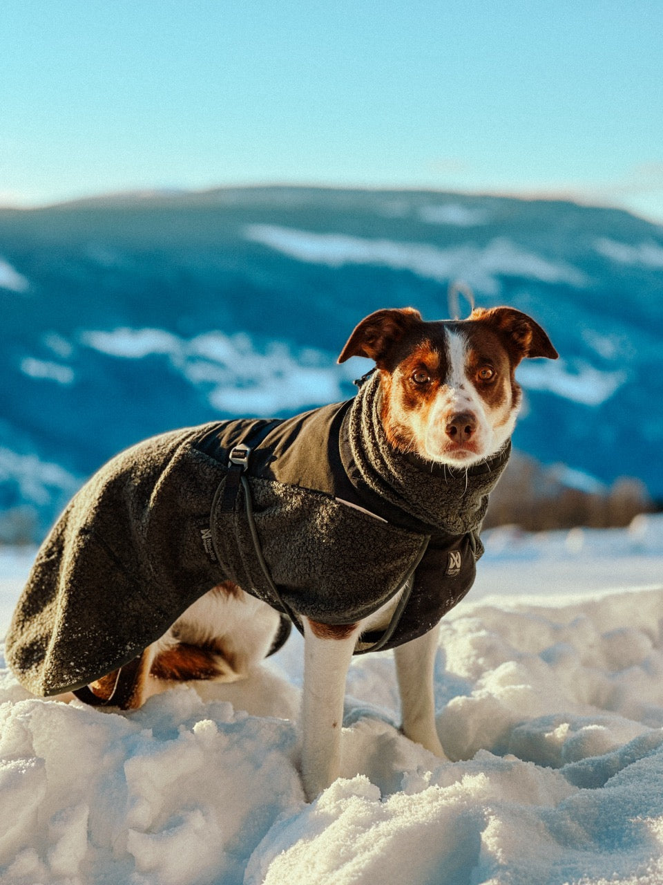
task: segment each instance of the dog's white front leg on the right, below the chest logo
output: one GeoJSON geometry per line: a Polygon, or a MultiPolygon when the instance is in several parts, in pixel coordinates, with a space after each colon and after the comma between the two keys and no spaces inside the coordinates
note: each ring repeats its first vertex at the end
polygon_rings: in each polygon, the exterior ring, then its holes
{"type": "Polygon", "coordinates": [[[403,734],[411,741],[421,743],[426,750],[446,759],[435,727],[435,697],[433,669],[438,650],[438,627],[399,645],[395,652],[396,674],[400,689],[400,709],[403,734]]]}

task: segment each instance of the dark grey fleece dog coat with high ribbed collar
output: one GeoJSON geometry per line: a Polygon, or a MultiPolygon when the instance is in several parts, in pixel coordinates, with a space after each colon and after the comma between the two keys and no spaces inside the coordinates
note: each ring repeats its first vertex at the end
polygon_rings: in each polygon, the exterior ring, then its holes
{"type": "MultiPolygon", "coordinates": [[[[48,696],[100,679],[226,580],[331,625],[365,618],[408,583],[382,647],[428,632],[474,581],[510,444],[468,471],[431,467],[392,450],[378,412],[375,375],[346,403],[189,427],[112,458],[39,550],[5,643],[19,681],[48,696]],[[256,539],[245,487],[228,490],[232,449],[254,439],[256,539]]],[[[377,638],[362,635],[357,650],[377,638]]]]}

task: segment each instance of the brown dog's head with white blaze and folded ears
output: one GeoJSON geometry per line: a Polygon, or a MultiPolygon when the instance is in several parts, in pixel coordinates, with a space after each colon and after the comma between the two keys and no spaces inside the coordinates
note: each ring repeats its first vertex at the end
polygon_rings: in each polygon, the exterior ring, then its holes
{"type": "Polygon", "coordinates": [[[375,360],[382,419],[394,448],[439,464],[469,466],[513,433],[523,358],[556,359],[544,330],[510,307],[469,319],[424,322],[411,307],[371,313],[339,356],[375,360]]]}

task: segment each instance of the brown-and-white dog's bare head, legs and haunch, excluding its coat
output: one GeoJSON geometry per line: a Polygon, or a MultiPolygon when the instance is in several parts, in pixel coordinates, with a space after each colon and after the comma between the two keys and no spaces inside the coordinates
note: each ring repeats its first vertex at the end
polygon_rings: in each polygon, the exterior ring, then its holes
{"type": "MultiPolygon", "coordinates": [[[[339,362],[354,356],[377,366],[381,417],[393,450],[457,468],[476,465],[507,443],[522,400],[514,379],[522,358],[554,359],[557,352],[533,319],[511,308],[476,309],[469,319],[444,322],[424,322],[405,308],[363,319],[339,362]]],[[[301,774],[310,799],[339,774],[345,681],[355,643],[365,630],[384,628],[397,604],[398,596],[370,618],[341,626],[301,618],[301,774]]],[[[139,706],[164,687],[163,681],[243,678],[267,655],[278,626],[278,612],[268,604],[230,582],[219,585],[144,652],[141,678],[127,705],[139,706]]],[[[433,701],[437,645],[433,628],[400,645],[395,660],[404,734],[445,758],[433,701]]],[[[113,679],[113,674],[105,677],[107,688],[113,679]]],[[[93,688],[103,696],[103,684],[93,688]]]]}

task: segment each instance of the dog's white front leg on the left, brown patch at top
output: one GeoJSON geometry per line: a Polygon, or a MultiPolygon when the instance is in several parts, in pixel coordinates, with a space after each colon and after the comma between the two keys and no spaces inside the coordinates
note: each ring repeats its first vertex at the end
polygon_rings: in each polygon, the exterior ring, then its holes
{"type": "Polygon", "coordinates": [[[360,627],[304,622],[301,779],[309,801],[339,776],[347,668],[360,627]]]}

